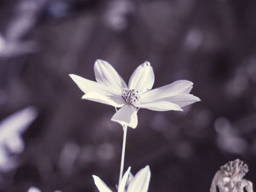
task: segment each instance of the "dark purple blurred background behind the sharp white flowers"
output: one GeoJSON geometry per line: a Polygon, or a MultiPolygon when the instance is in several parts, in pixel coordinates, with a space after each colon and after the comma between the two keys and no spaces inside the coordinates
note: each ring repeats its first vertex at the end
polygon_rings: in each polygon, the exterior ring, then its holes
{"type": "Polygon", "coordinates": [[[118,182],[113,107],[80,99],[69,73],[94,80],[108,61],[128,82],[144,61],[154,88],[195,83],[184,112],[140,110],[125,168],[151,167],[150,192],[208,191],[240,158],[256,180],[256,1],[1,0],[0,191],[97,191],[118,182]]]}

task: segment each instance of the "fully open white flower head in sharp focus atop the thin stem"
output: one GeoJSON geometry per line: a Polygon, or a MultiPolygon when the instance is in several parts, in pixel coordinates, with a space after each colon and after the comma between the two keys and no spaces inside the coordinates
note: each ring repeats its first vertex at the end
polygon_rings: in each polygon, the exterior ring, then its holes
{"type": "Polygon", "coordinates": [[[135,69],[128,86],[107,61],[97,60],[94,64],[94,73],[97,82],[75,74],[69,75],[86,93],[82,99],[121,107],[111,120],[132,128],[138,125],[137,112],[140,108],[182,111],[181,107],[200,101],[196,96],[189,94],[193,83],[188,80],[178,80],[151,90],[154,84],[154,72],[148,61],[135,69]]]}

